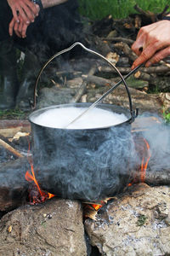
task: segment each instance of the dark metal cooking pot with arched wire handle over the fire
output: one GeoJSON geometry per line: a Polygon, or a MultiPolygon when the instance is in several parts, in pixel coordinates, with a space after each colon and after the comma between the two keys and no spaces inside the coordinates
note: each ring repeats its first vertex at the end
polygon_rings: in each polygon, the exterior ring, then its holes
{"type": "MultiPolygon", "coordinates": [[[[54,55],[50,61],[76,45],[84,48],[81,43],[75,43],[69,49],[54,55]]],[[[105,59],[103,56],[102,58],[105,59]]],[[[111,64],[110,61],[107,62],[111,64]]],[[[47,67],[48,63],[49,61],[44,67],[47,67]]],[[[125,81],[123,83],[126,84],[125,81]]],[[[36,89],[37,83],[35,91],[36,89]]],[[[99,103],[96,107],[125,114],[127,120],[119,125],[65,129],[37,125],[35,121],[39,115],[50,109],[89,108],[91,103],[55,105],[35,110],[30,114],[34,171],[42,189],[62,198],[98,201],[115,195],[127,186],[133,177],[131,160],[135,154],[131,123],[137,115],[132,109],[129,91],[128,96],[129,109],[104,103],[99,103]]]]}

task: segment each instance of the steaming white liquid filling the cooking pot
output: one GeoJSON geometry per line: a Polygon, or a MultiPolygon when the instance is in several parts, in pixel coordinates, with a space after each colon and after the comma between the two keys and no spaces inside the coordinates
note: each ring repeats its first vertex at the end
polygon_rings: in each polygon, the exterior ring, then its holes
{"type": "MultiPolygon", "coordinates": [[[[37,125],[51,128],[65,128],[87,108],[52,108],[39,114],[32,121],[37,125]]],[[[125,114],[113,113],[101,108],[93,108],[80,119],[69,125],[67,129],[93,129],[118,125],[126,121],[125,114]]]]}

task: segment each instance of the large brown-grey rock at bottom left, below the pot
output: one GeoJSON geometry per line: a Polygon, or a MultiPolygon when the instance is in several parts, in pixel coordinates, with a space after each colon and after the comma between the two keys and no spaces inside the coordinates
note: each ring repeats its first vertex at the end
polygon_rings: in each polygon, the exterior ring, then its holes
{"type": "Polygon", "coordinates": [[[1,256],[87,255],[78,201],[53,200],[8,212],[0,222],[1,256]]]}

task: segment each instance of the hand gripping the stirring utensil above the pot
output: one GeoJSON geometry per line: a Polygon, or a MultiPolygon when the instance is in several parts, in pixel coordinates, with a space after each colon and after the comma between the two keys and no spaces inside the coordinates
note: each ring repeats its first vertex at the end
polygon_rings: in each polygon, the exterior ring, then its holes
{"type": "Polygon", "coordinates": [[[139,57],[132,69],[145,62],[150,67],[170,55],[170,20],[161,20],[140,28],[132,50],[139,57]]]}

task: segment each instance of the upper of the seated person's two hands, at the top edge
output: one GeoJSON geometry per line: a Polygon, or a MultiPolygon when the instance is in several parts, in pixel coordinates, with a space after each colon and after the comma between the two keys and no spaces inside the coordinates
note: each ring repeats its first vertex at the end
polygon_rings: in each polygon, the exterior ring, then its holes
{"type": "Polygon", "coordinates": [[[31,0],[7,0],[8,5],[12,9],[14,20],[20,22],[19,14],[26,24],[34,21],[39,13],[39,6],[31,2],[31,0]]]}

